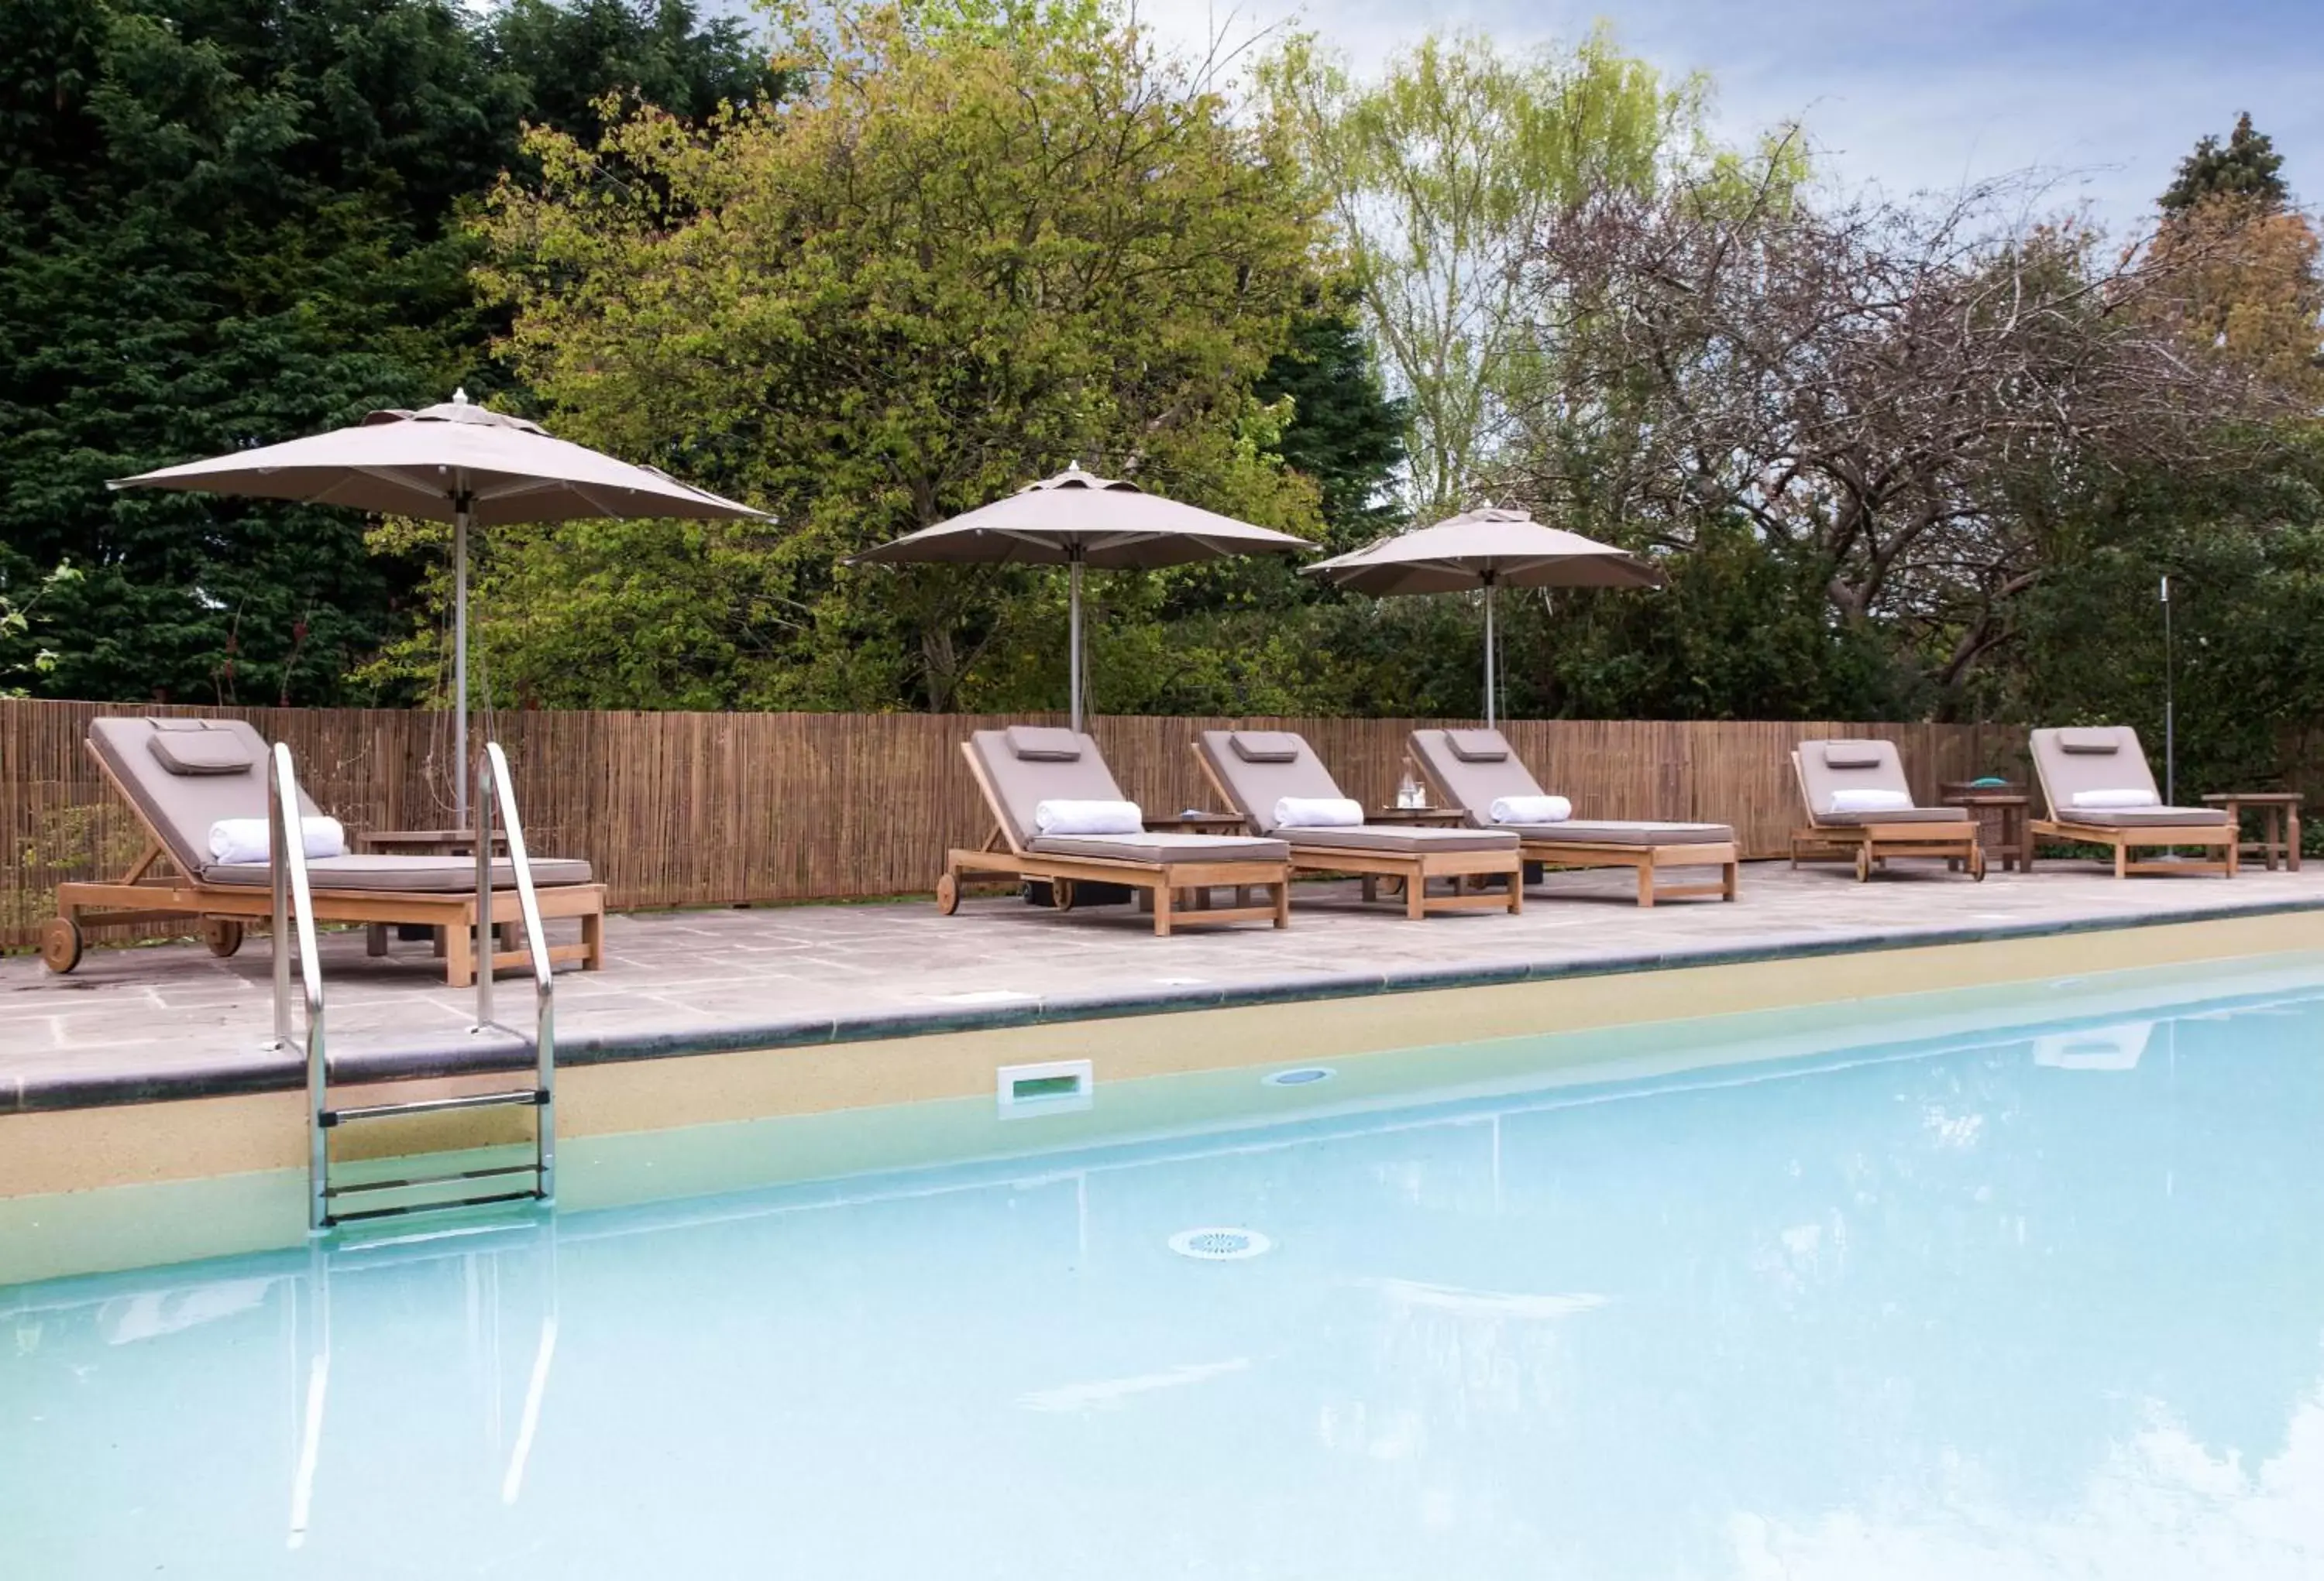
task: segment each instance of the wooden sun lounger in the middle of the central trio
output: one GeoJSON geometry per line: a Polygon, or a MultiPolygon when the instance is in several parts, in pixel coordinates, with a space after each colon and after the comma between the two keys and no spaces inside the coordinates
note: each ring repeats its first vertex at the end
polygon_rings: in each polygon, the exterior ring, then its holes
{"type": "Polygon", "coordinates": [[[1357,873],[1364,898],[1378,896],[1378,880],[1404,880],[1404,915],[1415,922],[1432,910],[1501,910],[1525,905],[1525,859],[1518,836],[1497,829],[1413,829],[1404,824],[1355,824],[1343,829],[1278,829],[1276,803],[1285,796],[1341,799],[1315,750],[1290,731],[1204,731],[1195,761],[1218,794],[1243,815],[1253,833],[1290,843],[1301,873],[1357,873]],[[1487,875],[1508,880],[1508,891],[1478,889],[1487,875]],[[1450,894],[1429,894],[1429,880],[1452,882],[1450,894]]]}

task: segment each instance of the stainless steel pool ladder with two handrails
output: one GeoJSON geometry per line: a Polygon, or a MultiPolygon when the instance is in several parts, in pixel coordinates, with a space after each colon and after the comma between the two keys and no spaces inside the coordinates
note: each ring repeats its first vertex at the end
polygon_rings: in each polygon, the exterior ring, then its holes
{"type": "Polygon", "coordinates": [[[516,789],[509,782],[509,759],[497,741],[483,745],[476,759],[476,1024],[469,1033],[507,1031],[493,1021],[493,813],[509,829],[509,868],[516,875],[516,908],[525,929],[525,952],[532,959],[532,1084],[460,1093],[458,1098],[418,1098],[409,1103],[330,1105],[330,1054],[323,1042],[323,963],[314,938],[314,896],[307,882],[307,840],[297,824],[297,773],[290,748],[274,745],[274,773],[267,778],[267,831],[274,859],[274,1047],[293,1047],[290,1038],[290,929],[297,929],[300,982],[307,996],[307,1228],[328,1230],[356,1219],[390,1219],[397,1214],[437,1212],[446,1207],[481,1207],[486,1203],[551,1200],[558,1189],[558,1040],[555,977],[548,970],[548,938],[541,929],[541,903],[532,889],[532,857],[525,852],[525,826],[516,815],[516,789]],[[330,1133],[370,1119],[409,1114],[446,1114],[453,1110],[530,1107],[532,1163],[449,1170],[442,1175],[404,1175],[397,1179],[363,1179],[335,1184],[330,1175],[330,1133]],[[423,1186],[474,1184],[530,1175],[523,1191],[483,1191],[479,1196],[432,1198],[393,1207],[337,1212],[342,1198],[374,1191],[411,1191],[423,1186]]]}

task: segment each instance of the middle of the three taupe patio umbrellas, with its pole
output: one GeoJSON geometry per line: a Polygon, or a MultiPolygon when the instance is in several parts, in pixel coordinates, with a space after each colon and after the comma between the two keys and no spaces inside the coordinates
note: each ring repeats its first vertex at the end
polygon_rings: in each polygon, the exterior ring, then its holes
{"type": "Polygon", "coordinates": [[[1074,729],[1081,729],[1081,571],[1141,571],[1183,566],[1220,555],[1297,555],[1315,548],[1287,532],[1269,532],[1148,494],[1136,483],[1088,474],[1076,462],[1055,478],[1027,483],[1006,499],[948,522],[881,543],[853,562],[904,564],[1027,564],[1067,566],[1069,664],[1074,729]]]}

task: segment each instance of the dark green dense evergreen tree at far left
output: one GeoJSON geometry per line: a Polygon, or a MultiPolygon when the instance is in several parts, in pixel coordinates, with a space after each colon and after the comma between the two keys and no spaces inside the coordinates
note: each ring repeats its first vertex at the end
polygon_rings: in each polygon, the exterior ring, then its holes
{"type": "Polygon", "coordinates": [[[688,102],[686,72],[748,65],[672,5],[528,0],[509,26],[537,81],[449,0],[0,7],[0,597],[79,571],[23,601],[56,657],[35,690],[349,696],[407,629],[416,562],[370,555],[349,513],[105,478],[497,385],[458,209],[537,102],[625,86],[588,77],[639,58],[621,19],[679,51],[653,81],[688,102]],[[541,42],[560,28],[597,53],[541,42]]]}

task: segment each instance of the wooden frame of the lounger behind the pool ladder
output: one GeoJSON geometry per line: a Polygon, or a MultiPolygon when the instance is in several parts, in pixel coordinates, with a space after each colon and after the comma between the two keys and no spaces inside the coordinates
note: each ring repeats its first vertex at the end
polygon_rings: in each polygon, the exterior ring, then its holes
{"type": "MultiPolygon", "coordinates": [[[[146,850],[114,882],[77,882],[56,887],[56,917],[42,929],[40,954],[51,970],[70,973],[81,961],[81,929],[132,922],[179,922],[200,919],[202,940],[211,954],[235,954],[242,947],[242,931],[249,922],[274,919],[272,885],[205,885],[195,875],[170,873],[177,859],[163,843],[160,831],[137,806],[114,775],[112,764],[93,743],[88,757],[98,773],[114,787],[121,801],[146,829],[146,850]]],[[[583,970],[604,968],[604,885],[539,885],[535,889],[541,917],[579,917],[579,945],[551,945],[548,961],[579,961],[583,970]]],[[[444,982],[465,989],[476,982],[476,891],[458,894],[409,894],[388,889],[323,889],[311,891],[316,922],[409,922],[442,929],[444,982]]],[[[521,922],[516,889],[493,891],[490,926],[521,922]]],[[[495,950],[493,970],[532,966],[528,950],[495,950]]]]}

